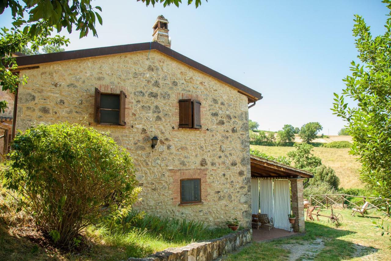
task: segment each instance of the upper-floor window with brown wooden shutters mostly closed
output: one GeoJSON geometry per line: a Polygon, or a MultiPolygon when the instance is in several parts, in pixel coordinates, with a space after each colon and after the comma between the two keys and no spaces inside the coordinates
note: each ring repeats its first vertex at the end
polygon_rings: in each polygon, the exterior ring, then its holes
{"type": "Polygon", "coordinates": [[[179,128],[201,127],[201,102],[192,99],[179,100],[179,128]]]}

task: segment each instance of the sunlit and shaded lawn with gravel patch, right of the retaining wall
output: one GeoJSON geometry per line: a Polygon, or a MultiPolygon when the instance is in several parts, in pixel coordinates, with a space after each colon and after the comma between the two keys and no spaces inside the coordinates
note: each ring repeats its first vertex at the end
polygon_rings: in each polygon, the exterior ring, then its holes
{"type": "MultiPolygon", "coordinates": [[[[390,260],[390,237],[380,236],[371,221],[379,220],[377,214],[364,218],[352,217],[348,210],[335,212],[343,216],[340,227],[328,224],[326,217],[319,217],[320,221],[306,221],[303,236],[253,242],[223,260],[390,260]]],[[[330,210],[322,210],[321,214],[330,214],[330,210]]]]}

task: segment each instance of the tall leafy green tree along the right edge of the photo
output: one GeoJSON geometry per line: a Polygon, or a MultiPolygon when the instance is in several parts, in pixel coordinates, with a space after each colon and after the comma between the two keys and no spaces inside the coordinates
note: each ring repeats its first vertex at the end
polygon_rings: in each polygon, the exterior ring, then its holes
{"type": "Polygon", "coordinates": [[[343,118],[353,139],[351,153],[362,163],[361,178],[383,197],[391,198],[391,0],[385,33],[373,37],[360,15],[353,36],[362,64],[352,62],[342,94],[334,93],[332,111],[343,118]],[[350,107],[345,98],[357,105],[350,107]],[[379,185],[382,184],[382,185],[379,185]]]}

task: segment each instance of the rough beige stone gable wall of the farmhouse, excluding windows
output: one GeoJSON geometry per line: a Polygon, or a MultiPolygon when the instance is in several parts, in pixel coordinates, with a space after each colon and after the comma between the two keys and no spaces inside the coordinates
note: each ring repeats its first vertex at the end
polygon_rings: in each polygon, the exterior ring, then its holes
{"type": "MultiPolygon", "coordinates": [[[[68,121],[91,125],[133,156],[142,186],[136,207],[217,226],[251,219],[248,104],[246,96],[158,51],[118,54],[40,65],[22,71],[17,129],[68,121]],[[126,98],[126,126],[93,123],[94,89],[126,98]],[[202,129],[178,129],[178,100],[201,101],[202,129]],[[151,138],[158,136],[155,149],[151,138]],[[179,206],[177,174],[202,174],[203,204],[179,206]]],[[[187,175],[186,174],[186,175],[187,175]]],[[[179,175],[179,176],[178,176],[179,175]]]]}

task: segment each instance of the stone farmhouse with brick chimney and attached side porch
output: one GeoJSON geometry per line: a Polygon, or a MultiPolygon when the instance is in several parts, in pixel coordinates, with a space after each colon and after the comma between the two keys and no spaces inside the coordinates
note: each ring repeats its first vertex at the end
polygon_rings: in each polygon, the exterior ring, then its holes
{"type": "MultiPolygon", "coordinates": [[[[237,218],[249,228],[262,186],[286,181],[280,227],[289,229],[292,206],[293,229],[303,231],[303,180],[312,175],[250,157],[248,110],[262,95],[170,49],[168,25],[158,16],[152,42],[17,57],[16,73],[29,80],[5,119],[11,136],[60,121],[109,132],[134,159],[136,208],[212,226],[237,218]]],[[[273,208],[271,189],[269,216],[282,206],[273,208]]]]}

